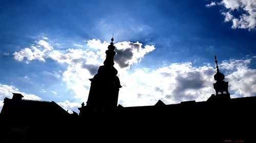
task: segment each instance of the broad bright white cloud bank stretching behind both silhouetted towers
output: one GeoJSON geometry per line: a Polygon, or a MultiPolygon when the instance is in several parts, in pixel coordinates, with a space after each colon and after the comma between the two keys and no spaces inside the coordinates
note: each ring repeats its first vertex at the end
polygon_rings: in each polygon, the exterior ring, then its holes
{"type": "MultiPolygon", "coordinates": [[[[103,65],[105,50],[109,46],[108,42],[96,39],[87,42],[87,49],[67,49],[65,51],[52,49],[44,52],[44,56],[42,56],[42,58],[50,58],[60,64],[67,64],[67,70],[57,74],[62,74],[59,77],[62,77],[62,80],[67,83],[67,88],[74,92],[74,95],[71,96],[84,103],[89,95],[91,85],[89,78],[93,78],[98,67],[103,65]]],[[[44,45],[47,46],[47,44],[44,45]]],[[[49,46],[51,45],[49,44],[49,46]]],[[[147,53],[153,51],[155,46],[143,46],[139,42],[129,41],[115,43],[115,46],[117,54],[114,58],[114,66],[118,70],[118,77],[123,87],[119,91],[118,103],[123,106],[154,105],[159,99],[166,104],[180,103],[186,100],[206,101],[211,94],[215,93],[212,83],[215,83],[216,70],[210,64],[195,67],[191,63],[169,63],[155,70],[142,68],[131,72],[129,71],[130,67],[138,63],[147,53]]],[[[27,59],[33,59],[33,57],[34,54],[32,58],[26,56],[27,59]]],[[[24,60],[24,58],[16,59],[24,60]]],[[[34,59],[36,60],[36,58],[34,59]]],[[[255,94],[255,70],[247,67],[249,63],[250,59],[243,59],[227,60],[220,64],[221,70],[228,71],[225,76],[226,81],[229,81],[232,97],[255,94]]],[[[64,103],[68,104],[68,101],[64,103]]]]}

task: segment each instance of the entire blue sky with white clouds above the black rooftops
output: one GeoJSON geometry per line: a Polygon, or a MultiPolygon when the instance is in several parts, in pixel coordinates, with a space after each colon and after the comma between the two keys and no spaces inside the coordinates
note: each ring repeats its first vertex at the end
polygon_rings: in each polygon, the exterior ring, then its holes
{"type": "Polygon", "coordinates": [[[205,101],[214,54],[232,98],[256,94],[253,0],[0,3],[0,108],[20,92],[77,111],[112,33],[123,106],[205,101]]]}

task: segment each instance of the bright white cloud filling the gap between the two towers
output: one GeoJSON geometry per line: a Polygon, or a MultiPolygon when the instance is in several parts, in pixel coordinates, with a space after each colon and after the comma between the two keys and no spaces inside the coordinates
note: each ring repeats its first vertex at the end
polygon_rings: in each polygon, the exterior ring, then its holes
{"type": "Polygon", "coordinates": [[[154,105],[159,99],[165,104],[205,101],[214,93],[214,74],[210,66],[193,67],[191,63],[173,63],[156,70],[137,69],[131,74],[122,71],[119,104],[154,105]]]}

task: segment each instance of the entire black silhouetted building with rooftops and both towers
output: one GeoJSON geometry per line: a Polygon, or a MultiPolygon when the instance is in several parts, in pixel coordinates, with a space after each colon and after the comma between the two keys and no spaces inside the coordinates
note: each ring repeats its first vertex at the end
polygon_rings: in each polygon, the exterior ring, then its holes
{"type": "Polygon", "coordinates": [[[230,99],[215,56],[216,83],[207,101],[154,106],[117,106],[121,88],[113,67],[114,39],[104,65],[90,79],[87,105],[79,116],[55,102],[5,98],[0,142],[256,142],[256,97],[230,99]]]}

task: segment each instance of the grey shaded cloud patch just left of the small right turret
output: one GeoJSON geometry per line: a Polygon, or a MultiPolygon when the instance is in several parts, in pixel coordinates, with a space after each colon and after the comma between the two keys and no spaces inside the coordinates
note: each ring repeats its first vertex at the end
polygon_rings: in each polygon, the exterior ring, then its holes
{"type": "Polygon", "coordinates": [[[188,72],[185,76],[178,75],[176,77],[177,85],[176,89],[173,91],[173,95],[175,100],[193,100],[194,97],[192,95],[186,95],[185,91],[188,89],[200,90],[204,87],[204,80],[201,78],[200,72],[188,72]]]}

